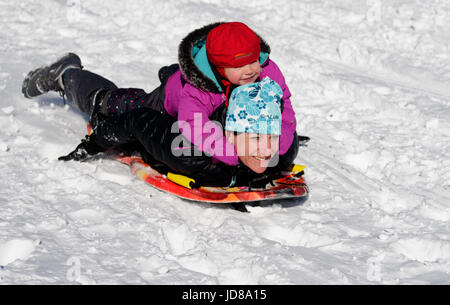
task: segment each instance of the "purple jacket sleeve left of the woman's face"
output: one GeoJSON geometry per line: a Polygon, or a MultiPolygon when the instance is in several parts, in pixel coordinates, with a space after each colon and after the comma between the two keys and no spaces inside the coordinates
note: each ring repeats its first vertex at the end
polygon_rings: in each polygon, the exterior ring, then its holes
{"type": "Polygon", "coordinates": [[[198,149],[226,165],[238,164],[234,146],[227,141],[223,126],[213,123],[209,117],[214,112],[208,93],[186,84],[178,110],[182,134],[198,149]]]}

